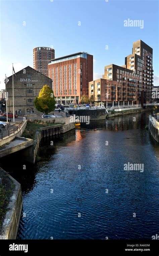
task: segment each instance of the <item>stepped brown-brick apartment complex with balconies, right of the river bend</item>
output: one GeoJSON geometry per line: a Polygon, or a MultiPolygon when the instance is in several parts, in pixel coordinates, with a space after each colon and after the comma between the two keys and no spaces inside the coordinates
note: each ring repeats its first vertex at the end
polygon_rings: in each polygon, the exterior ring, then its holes
{"type": "Polygon", "coordinates": [[[125,57],[125,65],[105,66],[102,79],[89,82],[89,96],[107,105],[148,103],[152,99],[153,49],[142,40],[133,43],[132,54],[125,57]],[[144,91],[144,98],[141,92],[144,91]]]}

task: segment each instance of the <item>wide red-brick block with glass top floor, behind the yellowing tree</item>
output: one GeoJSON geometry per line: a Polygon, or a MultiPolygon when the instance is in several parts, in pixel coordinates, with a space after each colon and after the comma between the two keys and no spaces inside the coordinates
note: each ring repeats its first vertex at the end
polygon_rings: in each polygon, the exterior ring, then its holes
{"type": "Polygon", "coordinates": [[[93,55],[78,52],[51,60],[49,77],[57,103],[79,103],[93,80],[93,55]]]}

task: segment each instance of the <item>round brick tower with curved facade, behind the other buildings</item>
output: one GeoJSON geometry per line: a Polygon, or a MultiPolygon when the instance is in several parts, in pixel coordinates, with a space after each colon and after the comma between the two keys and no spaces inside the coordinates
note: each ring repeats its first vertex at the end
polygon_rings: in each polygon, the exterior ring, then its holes
{"type": "Polygon", "coordinates": [[[55,50],[49,47],[36,47],[33,49],[34,69],[48,76],[48,63],[55,58],[55,50]]]}

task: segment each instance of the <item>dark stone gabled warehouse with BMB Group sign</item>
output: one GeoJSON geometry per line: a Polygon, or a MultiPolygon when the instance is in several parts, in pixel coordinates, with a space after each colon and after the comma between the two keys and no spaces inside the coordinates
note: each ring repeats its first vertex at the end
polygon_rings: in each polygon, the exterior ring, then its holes
{"type": "MultiPolygon", "coordinates": [[[[8,92],[8,112],[13,113],[12,76],[8,77],[6,89],[8,92]]],[[[34,99],[39,95],[44,85],[52,88],[52,80],[28,66],[13,75],[14,80],[14,112],[17,110],[24,114],[38,113],[34,107],[34,99]],[[16,76],[15,76],[16,75],[16,76]]]]}

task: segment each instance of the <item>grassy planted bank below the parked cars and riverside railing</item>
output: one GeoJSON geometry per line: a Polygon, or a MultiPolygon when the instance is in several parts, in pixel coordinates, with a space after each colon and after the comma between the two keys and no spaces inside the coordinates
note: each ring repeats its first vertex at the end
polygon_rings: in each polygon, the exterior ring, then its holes
{"type": "Polygon", "coordinates": [[[22,137],[35,139],[35,134],[37,131],[40,131],[40,128],[58,124],[54,122],[55,120],[53,120],[53,122],[50,122],[50,121],[42,121],[38,119],[34,120],[33,122],[28,121],[27,126],[25,127],[25,131],[22,134],[22,137]]]}

